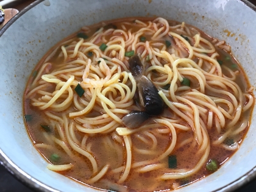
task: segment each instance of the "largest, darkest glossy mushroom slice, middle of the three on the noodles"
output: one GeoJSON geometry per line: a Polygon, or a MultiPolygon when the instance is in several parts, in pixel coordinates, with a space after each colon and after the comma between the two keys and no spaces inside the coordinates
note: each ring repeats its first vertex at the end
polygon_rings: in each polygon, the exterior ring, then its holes
{"type": "Polygon", "coordinates": [[[137,86],[140,94],[140,104],[144,108],[144,112],[148,115],[160,115],[165,108],[165,103],[158,94],[155,85],[146,76],[141,76],[137,86]]]}

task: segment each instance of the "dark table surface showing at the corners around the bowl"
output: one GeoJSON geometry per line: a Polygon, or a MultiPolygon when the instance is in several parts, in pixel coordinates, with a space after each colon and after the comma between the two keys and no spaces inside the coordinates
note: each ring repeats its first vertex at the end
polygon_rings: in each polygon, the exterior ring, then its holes
{"type": "MultiPolygon", "coordinates": [[[[20,11],[34,1],[35,0],[27,0],[27,1],[24,0],[21,4],[15,5],[12,8],[18,9],[20,11]]],[[[256,5],[256,0],[249,0],[249,1],[256,5]]],[[[15,177],[13,177],[12,174],[10,174],[10,172],[8,172],[2,165],[0,165],[0,191],[1,192],[13,192],[13,191],[34,192],[33,190],[30,190],[30,188],[26,187],[26,185],[21,183],[19,180],[16,180],[15,177]]],[[[251,191],[256,191],[256,178],[233,192],[251,192],[251,191]]]]}

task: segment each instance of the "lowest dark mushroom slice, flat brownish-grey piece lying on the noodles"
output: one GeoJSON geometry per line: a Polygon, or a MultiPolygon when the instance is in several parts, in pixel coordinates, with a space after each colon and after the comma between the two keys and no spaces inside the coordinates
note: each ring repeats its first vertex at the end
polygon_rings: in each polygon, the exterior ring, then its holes
{"type": "Polygon", "coordinates": [[[145,121],[149,119],[149,115],[145,112],[133,111],[122,118],[124,126],[129,129],[140,127],[145,121]]]}

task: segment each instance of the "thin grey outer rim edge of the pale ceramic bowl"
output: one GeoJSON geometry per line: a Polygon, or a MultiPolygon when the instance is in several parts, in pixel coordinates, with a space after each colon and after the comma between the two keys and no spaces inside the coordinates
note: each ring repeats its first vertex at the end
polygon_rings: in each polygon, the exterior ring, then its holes
{"type": "MultiPolygon", "coordinates": [[[[28,10],[32,9],[36,5],[40,4],[44,0],[37,0],[35,2],[32,2],[30,5],[25,7],[21,12],[16,14],[7,24],[0,29],[0,37],[4,34],[4,32],[13,24],[15,23],[18,18],[20,18],[24,13],[26,13],[28,10]]],[[[244,5],[252,9],[254,12],[256,12],[256,5],[252,4],[251,2],[247,0],[238,0],[240,2],[243,2],[244,5]]],[[[34,177],[29,176],[26,172],[24,172],[19,166],[15,165],[15,163],[10,160],[7,155],[4,154],[4,152],[0,148],[0,164],[7,169],[16,179],[20,180],[24,185],[27,187],[36,190],[36,191],[43,191],[43,192],[60,192],[59,190],[55,190],[55,188],[49,187],[43,182],[40,182],[40,180],[35,179],[34,177]]],[[[244,184],[250,182],[256,177],[256,166],[252,168],[250,171],[246,172],[243,176],[239,177],[236,180],[233,180],[233,182],[228,183],[227,185],[224,185],[221,188],[218,188],[215,191],[212,192],[220,192],[220,191],[233,191],[237,188],[240,188],[244,184]]]]}

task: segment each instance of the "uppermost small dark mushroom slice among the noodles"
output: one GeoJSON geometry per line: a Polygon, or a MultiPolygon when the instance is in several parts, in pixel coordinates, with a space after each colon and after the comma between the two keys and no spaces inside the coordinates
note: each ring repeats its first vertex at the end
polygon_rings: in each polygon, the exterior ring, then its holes
{"type": "Polygon", "coordinates": [[[144,73],[144,66],[141,63],[140,56],[138,54],[133,55],[128,60],[128,63],[129,71],[132,73],[132,76],[135,78],[137,82],[144,73]]]}

